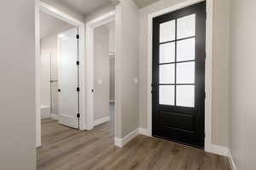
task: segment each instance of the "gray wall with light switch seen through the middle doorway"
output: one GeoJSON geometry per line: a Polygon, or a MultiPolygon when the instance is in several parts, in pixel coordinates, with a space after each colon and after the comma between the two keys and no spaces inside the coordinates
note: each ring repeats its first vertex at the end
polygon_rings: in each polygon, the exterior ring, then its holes
{"type": "Polygon", "coordinates": [[[109,31],[94,31],[94,120],[109,116],[109,31]]]}

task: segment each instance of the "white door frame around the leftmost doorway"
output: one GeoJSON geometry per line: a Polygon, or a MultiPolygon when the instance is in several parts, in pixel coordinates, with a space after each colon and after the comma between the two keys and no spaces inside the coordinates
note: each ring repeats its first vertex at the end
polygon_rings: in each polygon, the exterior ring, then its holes
{"type": "Polygon", "coordinates": [[[61,10],[50,6],[47,3],[41,2],[39,0],[35,0],[35,43],[36,43],[36,129],[37,129],[37,143],[36,146],[41,146],[41,111],[40,111],[40,12],[44,12],[49,14],[59,20],[63,20],[70,25],[76,26],[79,28],[79,59],[80,59],[80,130],[85,130],[85,24],[84,22],[75,19],[73,16],[62,12],[61,10]]]}

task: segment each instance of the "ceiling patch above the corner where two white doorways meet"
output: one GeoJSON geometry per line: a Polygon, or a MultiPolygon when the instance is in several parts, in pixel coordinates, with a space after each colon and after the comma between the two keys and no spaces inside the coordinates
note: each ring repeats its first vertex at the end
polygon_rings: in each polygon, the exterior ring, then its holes
{"type": "Polygon", "coordinates": [[[90,14],[97,8],[112,4],[110,0],[50,0],[54,3],[61,3],[80,14],[90,14]]]}

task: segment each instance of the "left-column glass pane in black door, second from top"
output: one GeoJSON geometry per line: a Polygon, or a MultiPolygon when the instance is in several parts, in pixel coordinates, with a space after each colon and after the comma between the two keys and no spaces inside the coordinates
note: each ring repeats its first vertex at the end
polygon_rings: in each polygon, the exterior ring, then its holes
{"type": "Polygon", "coordinates": [[[175,42],[160,44],[160,63],[175,61],[175,42]]]}

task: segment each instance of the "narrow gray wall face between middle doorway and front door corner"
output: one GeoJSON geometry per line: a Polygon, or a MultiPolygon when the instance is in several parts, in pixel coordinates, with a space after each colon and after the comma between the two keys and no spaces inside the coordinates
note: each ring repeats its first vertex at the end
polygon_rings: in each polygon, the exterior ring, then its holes
{"type": "Polygon", "coordinates": [[[116,127],[123,138],[138,127],[139,11],[133,1],[122,0],[116,7],[116,127]]]}

